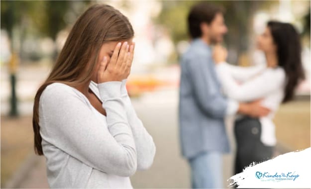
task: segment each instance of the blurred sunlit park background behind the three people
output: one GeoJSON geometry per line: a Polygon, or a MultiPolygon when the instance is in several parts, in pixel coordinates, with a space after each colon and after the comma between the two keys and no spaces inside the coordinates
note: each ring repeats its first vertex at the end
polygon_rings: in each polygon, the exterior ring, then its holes
{"type": "MultiPolygon", "coordinates": [[[[186,17],[198,1],[5,1],[1,0],[1,188],[47,188],[45,159],[33,151],[32,107],[40,84],[79,15],[94,3],[107,3],[133,25],[135,56],[127,89],[138,116],[157,146],[153,166],[137,172],[134,188],[189,188],[190,173],[179,146],[177,105],[179,58],[189,45],[186,17]]],[[[301,34],[307,75],[295,100],[276,117],[277,154],[310,147],[310,1],[210,1],[225,8],[228,62],[264,63],[256,36],[270,19],[293,23],[301,34]]],[[[224,161],[224,186],[232,175],[232,153],[224,161]]]]}

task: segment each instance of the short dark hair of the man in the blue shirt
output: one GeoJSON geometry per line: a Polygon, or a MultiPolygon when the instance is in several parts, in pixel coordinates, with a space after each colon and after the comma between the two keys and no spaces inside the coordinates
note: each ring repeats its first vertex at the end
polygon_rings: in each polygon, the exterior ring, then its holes
{"type": "Polygon", "coordinates": [[[209,24],[217,13],[223,13],[223,8],[207,2],[195,4],[188,14],[188,30],[190,36],[193,39],[201,37],[202,31],[200,24],[202,22],[209,24]]]}

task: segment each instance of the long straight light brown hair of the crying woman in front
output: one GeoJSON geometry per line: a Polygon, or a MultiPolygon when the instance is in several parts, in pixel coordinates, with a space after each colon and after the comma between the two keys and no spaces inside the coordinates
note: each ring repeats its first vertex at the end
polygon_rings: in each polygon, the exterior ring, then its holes
{"type": "Polygon", "coordinates": [[[43,155],[38,109],[44,89],[55,82],[74,87],[90,81],[103,43],[128,40],[133,36],[134,31],[127,17],[110,5],[94,4],[78,18],[50,75],[34,98],[32,125],[37,155],[43,155]],[[90,67],[85,72],[88,64],[90,67]]]}

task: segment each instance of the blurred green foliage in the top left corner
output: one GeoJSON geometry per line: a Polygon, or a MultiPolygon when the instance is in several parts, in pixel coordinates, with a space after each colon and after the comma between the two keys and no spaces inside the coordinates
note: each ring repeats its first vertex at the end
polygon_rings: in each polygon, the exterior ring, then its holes
{"type": "Polygon", "coordinates": [[[92,1],[1,0],[1,28],[11,36],[12,28],[25,24],[26,20],[26,30],[55,40],[57,33],[68,24],[64,20],[66,13],[73,11],[73,4],[78,2],[87,5],[92,1]]]}

